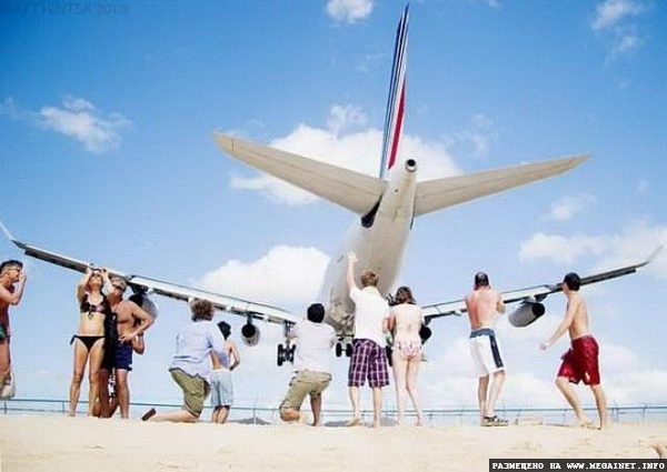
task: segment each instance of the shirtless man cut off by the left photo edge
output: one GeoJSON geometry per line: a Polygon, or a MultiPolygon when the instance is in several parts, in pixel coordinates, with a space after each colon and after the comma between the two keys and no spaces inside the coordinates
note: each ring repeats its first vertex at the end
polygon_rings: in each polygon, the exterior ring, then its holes
{"type": "Polygon", "coordinates": [[[24,289],[23,263],[14,260],[2,262],[0,264],[0,390],[6,381],[9,383],[11,375],[9,305],[19,304],[24,289]]]}

